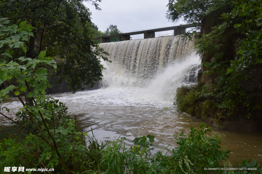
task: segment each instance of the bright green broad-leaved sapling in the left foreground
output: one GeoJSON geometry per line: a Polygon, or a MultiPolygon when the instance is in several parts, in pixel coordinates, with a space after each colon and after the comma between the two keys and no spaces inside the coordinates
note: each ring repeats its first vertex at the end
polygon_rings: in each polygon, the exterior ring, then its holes
{"type": "MultiPolygon", "coordinates": [[[[30,139],[32,141],[34,142],[36,140],[41,141],[42,145],[43,144],[47,145],[47,147],[44,146],[46,148],[45,152],[46,150],[54,151],[54,154],[56,154],[54,158],[57,161],[61,162],[61,165],[65,173],[69,174],[70,172],[68,166],[65,163],[64,158],[62,157],[63,152],[60,150],[61,147],[59,148],[60,143],[57,142],[57,139],[60,140],[63,139],[61,137],[63,135],[58,132],[55,133],[56,131],[59,130],[58,127],[56,127],[58,128],[56,130],[55,126],[53,127],[53,133],[50,133],[51,127],[47,126],[48,120],[53,120],[54,123],[55,121],[54,117],[56,117],[56,115],[53,113],[56,113],[58,110],[53,108],[52,100],[48,99],[48,97],[45,96],[45,89],[47,88],[47,86],[49,86],[49,84],[47,81],[47,69],[41,68],[41,66],[50,65],[54,69],[56,69],[56,64],[55,64],[56,62],[52,60],[50,57],[45,57],[46,51],[40,52],[40,54],[37,56],[38,59],[31,59],[25,57],[19,57],[17,59],[14,59],[12,55],[14,55],[14,53],[16,53],[16,50],[19,48],[23,49],[24,53],[27,53],[25,42],[28,41],[29,36],[33,36],[33,33],[31,31],[34,28],[31,27],[30,25],[25,25],[26,21],[21,22],[19,24],[19,27],[17,25],[6,26],[6,24],[8,23],[9,20],[6,20],[6,18],[0,18],[0,26],[1,26],[0,85],[4,85],[4,88],[1,89],[0,91],[0,103],[1,103],[0,114],[6,117],[7,119],[13,121],[14,123],[18,124],[24,130],[29,131],[30,139]],[[26,93],[26,90],[29,91],[29,93],[26,94],[27,97],[34,98],[33,99],[34,105],[30,105],[30,106],[27,105],[26,103],[24,103],[23,99],[21,98],[21,94],[26,93]],[[28,128],[26,124],[21,124],[11,119],[3,112],[3,109],[9,112],[8,108],[6,107],[2,108],[2,101],[3,99],[9,98],[9,93],[12,93],[13,95],[17,96],[21,104],[23,104],[23,108],[20,109],[20,113],[22,111],[25,115],[28,116],[28,118],[30,118],[31,120],[30,123],[31,125],[34,125],[36,131],[33,131],[32,129],[30,130],[30,128],[28,128]],[[48,103],[50,103],[49,107],[48,107],[48,103]],[[44,106],[46,106],[46,108],[44,106]]],[[[65,122],[65,124],[67,123],[65,122]]],[[[61,128],[65,130],[65,126],[60,127],[60,130],[61,128]]],[[[69,132],[71,133],[72,130],[69,132]]],[[[7,140],[5,141],[8,142],[7,140]]],[[[13,145],[13,147],[15,147],[14,145],[15,140],[9,140],[9,143],[7,144],[11,146],[13,145]]],[[[29,147],[26,146],[27,144],[20,144],[20,145],[21,145],[19,146],[20,148],[25,147],[27,149],[30,149],[29,147]]],[[[14,150],[11,151],[14,152],[14,150]]],[[[46,167],[45,164],[42,162],[43,158],[39,158],[39,156],[32,149],[30,149],[30,154],[31,153],[33,153],[32,156],[35,156],[40,160],[43,167],[46,167]]],[[[3,155],[2,148],[0,154],[1,156],[3,155]]],[[[4,164],[6,162],[8,162],[8,160],[3,161],[4,164]]]]}

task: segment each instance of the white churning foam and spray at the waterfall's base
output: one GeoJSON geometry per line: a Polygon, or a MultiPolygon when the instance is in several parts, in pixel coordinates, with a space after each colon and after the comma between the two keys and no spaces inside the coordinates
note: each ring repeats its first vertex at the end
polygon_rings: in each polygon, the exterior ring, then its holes
{"type": "Polygon", "coordinates": [[[119,88],[127,88],[136,100],[157,101],[164,103],[173,103],[176,89],[184,83],[195,83],[197,72],[200,69],[199,57],[191,56],[184,61],[174,61],[162,73],[157,74],[154,79],[144,79],[146,84],[140,87],[138,79],[132,77],[124,69],[119,72],[117,65],[103,62],[107,70],[103,72],[102,89],[110,88],[119,91],[119,88]],[[118,72],[115,70],[117,69],[118,72]],[[190,71],[190,70],[194,71],[190,71]],[[193,76],[193,79],[192,79],[193,76]],[[139,92],[138,92],[139,91],[139,92]]]}

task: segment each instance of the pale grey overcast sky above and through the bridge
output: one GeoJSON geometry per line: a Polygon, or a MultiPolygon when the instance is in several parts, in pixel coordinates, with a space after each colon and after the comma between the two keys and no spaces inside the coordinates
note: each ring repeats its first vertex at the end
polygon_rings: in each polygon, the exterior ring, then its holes
{"type": "MultiPolygon", "coordinates": [[[[88,2],[84,2],[92,12],[92,22],[100,31],[105,31],[110,24],[117,25],[122,32],[143,30],[158,27],[175,26],[166,19],[168,0],[102,0],[98,3],[101,11],[88,2]]],[[[165,34],[172,35],[173,31],[156,32],[156,37],[165,34]]],[[[141,38],[143,35],[132,35],[141,38]]]]}

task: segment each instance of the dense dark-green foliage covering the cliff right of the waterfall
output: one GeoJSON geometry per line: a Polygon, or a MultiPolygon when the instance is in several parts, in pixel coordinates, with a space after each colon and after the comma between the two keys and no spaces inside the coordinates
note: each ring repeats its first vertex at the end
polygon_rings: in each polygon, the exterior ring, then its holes
{"type": "MultiPolygon", "coordinates": [[[[227,1],[210,2],[228,3],[227,1]]],[[[261,100],[259,99],[261,92],[255,91],[255,84],[251,82],[258,78],[249,71],[252,66],[253,70],[259,72],[262,63],[262,1],[240,0],[231,4],[228,6],[230,10],[221,8],[225,11],[222,13],[219,13],[221,10],[218,9],[214,11],[221,14],[220,18],[210,19],[213,17],[212,15],[206,16],[208,22],[216,21],[216,26],[212,26],[212,29],[210,26],[209,32],[204,32],[196,40],[196,48],[197,53],[202,55],[204,75],[212,75],[211,78],[216,78],[214,86],[210,88],[209,97],[206,98],[207,101],[212,101],[212,105],[215,105],[219,111],[217,112],[219,114],[215,114],[213,117],[221,115],[221,118],[227,116],[229,119],[242,115],[250,118],[255,115],[256,110],[261,109],[261,100]]],[[[216,9],[218,5],[210,6],[210,9],[204,14],[216,9]]],[[[185,20],[189,16],[190,14],[187,14],[185,20]]],[[[207,26],[209,25],[207,24],[207,26]]],[[[205,86],[199,90],[188,92],[181,100],[182,105],[190,106],[188,101],[192,96],[206,95],[201,92],[203,89],[205,86]]],[[[193,111],[194,109],[190,110],[192,113],[193,111]]]]}

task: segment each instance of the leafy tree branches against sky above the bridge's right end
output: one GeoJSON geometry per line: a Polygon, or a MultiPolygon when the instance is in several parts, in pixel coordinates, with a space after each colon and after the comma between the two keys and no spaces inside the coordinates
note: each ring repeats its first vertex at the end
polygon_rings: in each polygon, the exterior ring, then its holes
{"type": "Polygon", "coordinates": [[[232,5],[231,0],[169,0],[167,7],[168,20],[176,22],[182,19],[187,24],[202,23],[202,32],[208,33],[220,14],[231,10],[232,5]],[[205,29],[206,32],[203,31],[205,29]]]}

